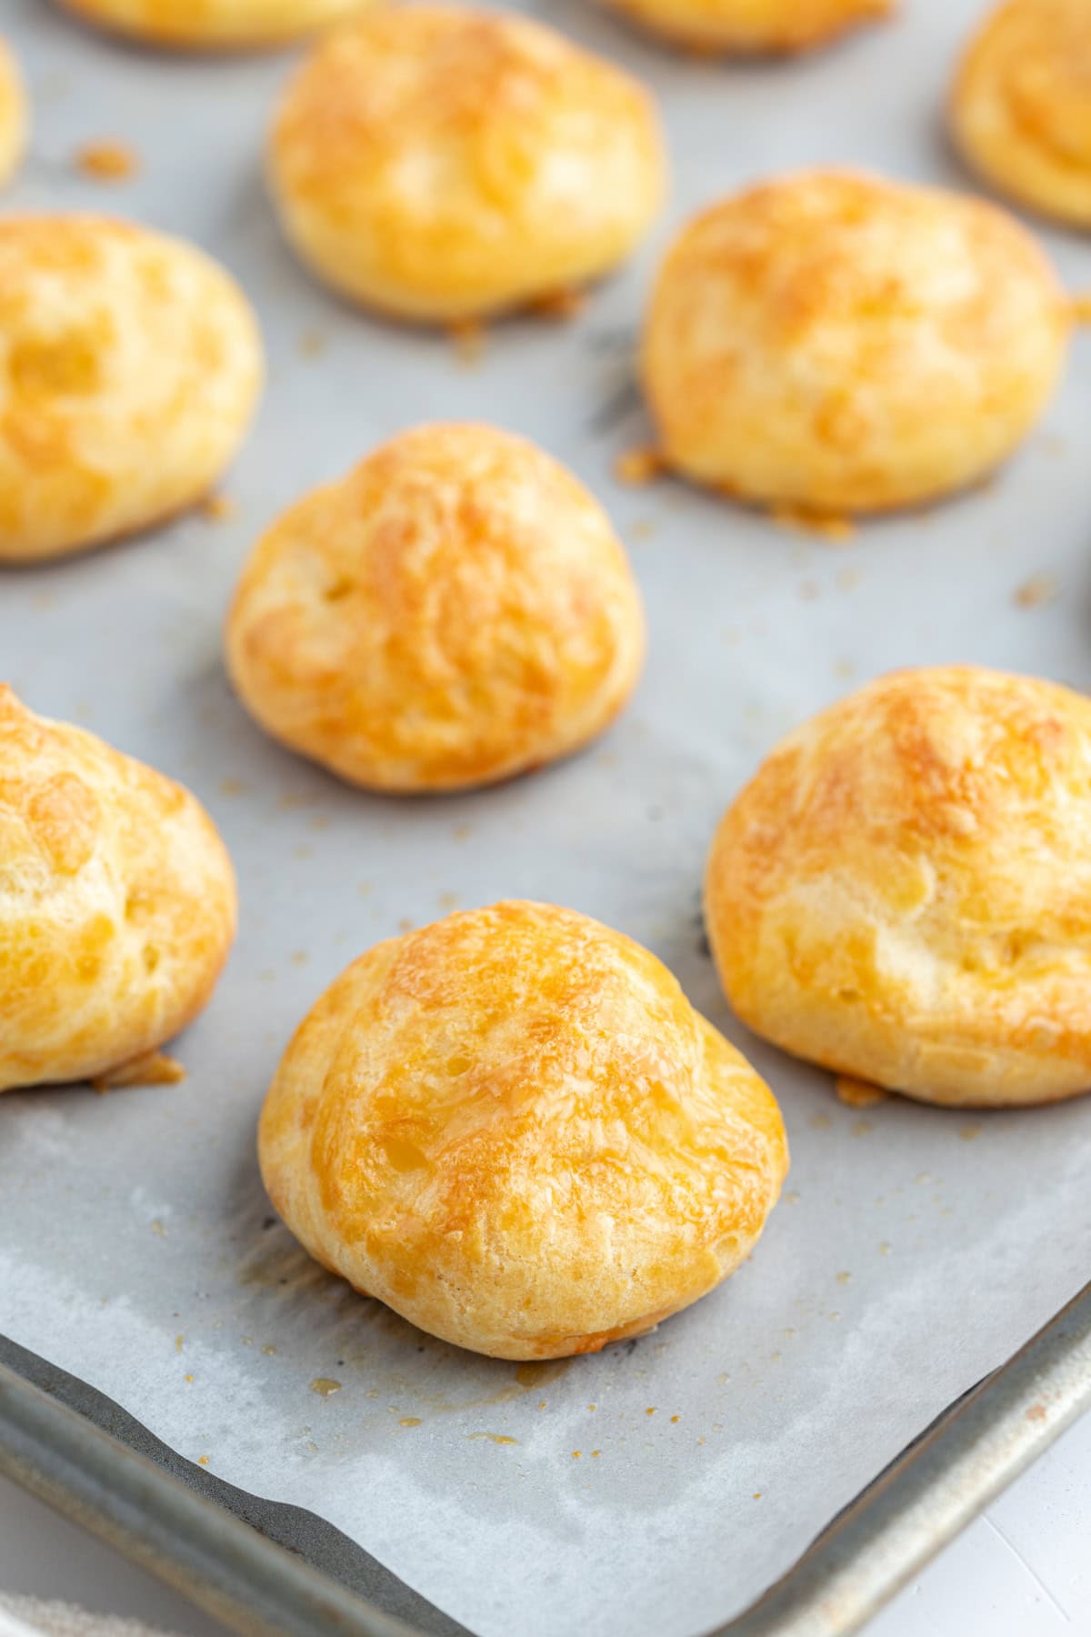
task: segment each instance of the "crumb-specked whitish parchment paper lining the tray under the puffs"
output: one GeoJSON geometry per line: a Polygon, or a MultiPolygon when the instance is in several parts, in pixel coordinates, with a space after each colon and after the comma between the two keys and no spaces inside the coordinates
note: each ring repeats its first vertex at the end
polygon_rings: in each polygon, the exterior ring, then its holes
{"type": "MultiPolygon", "coordinates": [[[[532,10],[658,87],[674,190],[644,254],[572,324],[505,324],[469,367],[443,337],[350,313],[281,247],[258,142],[288,59],[159,59],[5,0],[38,120],[7,208],[114,210],[208,246],[258,306],[272,380],[226,485],[232,517],[0,581],[0,671],[34,709],[190,782],[242,891],[236,954],[178,1048],[186,1084],[0,1100],[0,1329],[209,1472],[329,1519],[481,1637],[694,1637],[1088,1277],[1091,1102],[841,1107],[828,1076],[730,1017],[698,884],[721,807],[774,740],[869,676],[968,660],[1091,688],[1091,339],[996,483],[851,545],[669,483],[620,488],[615,455],[648,435],[631,340],[669,232],[787,165],[957,183],[942,79],[980,7],[918,0],[829,54],[751,67],[659,52],[579,0],[532,10]],[[132,144],[136,180],[74,170],[101,138],[132,144]],[[286,503],[435,416],[525,432],[605,499],[651,660],[584,756],[473,797],[384,800],[250,725],[219,625],[286,503]],[[715,1295],[640,1342],[532,1369],[433,1342],[311,1265],[254,1156],[280,1051],[340,967],[502,895],[649,945],[769,1077],[793,1151],[765,1238],[715,1295]]],[[[1091,288],[1091,246],[1045,237],[1091,288]]]]}

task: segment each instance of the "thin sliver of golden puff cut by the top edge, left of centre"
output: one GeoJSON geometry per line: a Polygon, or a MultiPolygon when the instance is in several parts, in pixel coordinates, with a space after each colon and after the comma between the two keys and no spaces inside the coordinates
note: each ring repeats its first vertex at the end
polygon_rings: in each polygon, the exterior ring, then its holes
{"type": "Polygon", "coordinates": [[[379,0],[62,0],[131,39],[188,49],[275,46],[379,0]]]}

